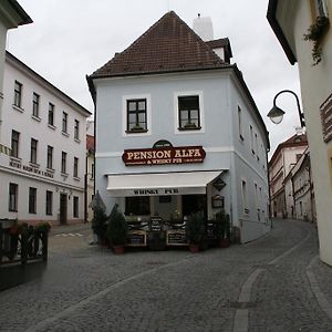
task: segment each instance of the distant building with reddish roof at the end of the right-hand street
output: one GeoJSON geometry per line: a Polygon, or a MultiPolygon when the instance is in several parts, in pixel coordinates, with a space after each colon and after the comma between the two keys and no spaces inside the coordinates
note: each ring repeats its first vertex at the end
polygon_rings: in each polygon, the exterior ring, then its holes
{"type": "Polygon", "coordinates": [[[278,218],[293,216],[292,185],[288,175],[308,147],[307,135],[293,135],[279,144],[269,162],[271,214],[278,218]]]}

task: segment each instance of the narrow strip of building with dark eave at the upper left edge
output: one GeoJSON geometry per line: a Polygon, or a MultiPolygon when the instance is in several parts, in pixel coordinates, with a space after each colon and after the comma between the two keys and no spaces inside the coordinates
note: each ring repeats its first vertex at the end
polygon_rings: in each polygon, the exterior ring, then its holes
{"type": "MultiPolygon", "coordinates": [[[[32,23],[32,20],[15,0],[0,2],[0,135],[2,128],[3,71],[6,58],[6,40],[9,29],[32,23]]],[[[10,153],[10,147],[0,141],[0,154],[10,153]]]]}

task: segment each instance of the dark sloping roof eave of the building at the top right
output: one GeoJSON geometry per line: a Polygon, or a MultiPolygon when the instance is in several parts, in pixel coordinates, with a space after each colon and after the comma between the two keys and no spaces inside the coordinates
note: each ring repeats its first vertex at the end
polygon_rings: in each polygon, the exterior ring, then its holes
{"type": "Polygon", "coordinates": [[[294,64],[297,62],[297,56],[293,53],[278,20],[277,20],[277,8],[278,8],[278,0],[270,0],[269,1],[269,7],[268,7],[268,12],[267,12],[267,19],[277,35],[289,62],[291,64],[294,64]]]}

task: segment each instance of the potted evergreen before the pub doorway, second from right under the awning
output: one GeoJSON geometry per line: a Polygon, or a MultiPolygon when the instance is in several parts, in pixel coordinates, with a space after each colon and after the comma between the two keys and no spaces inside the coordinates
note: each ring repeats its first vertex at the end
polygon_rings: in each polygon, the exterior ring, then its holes
{"type": "Polygon", "coordinates": [[[203,242],[205,226],[203,212],[196,212],[189,217],[186,224],[186,236],[191,252],[199,251],[199,245],[203,242]]]}

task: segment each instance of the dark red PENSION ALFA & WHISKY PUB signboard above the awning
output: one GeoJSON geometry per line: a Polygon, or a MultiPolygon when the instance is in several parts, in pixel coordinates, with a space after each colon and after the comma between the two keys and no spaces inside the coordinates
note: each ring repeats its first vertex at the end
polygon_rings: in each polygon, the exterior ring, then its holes
{"type": "Polygon", "coordinates": [[[126,166],[152,166],[203,163],[205,155],[203,146],[168,146],[159,148],[125,149],[122,159],[126,166]]]}

